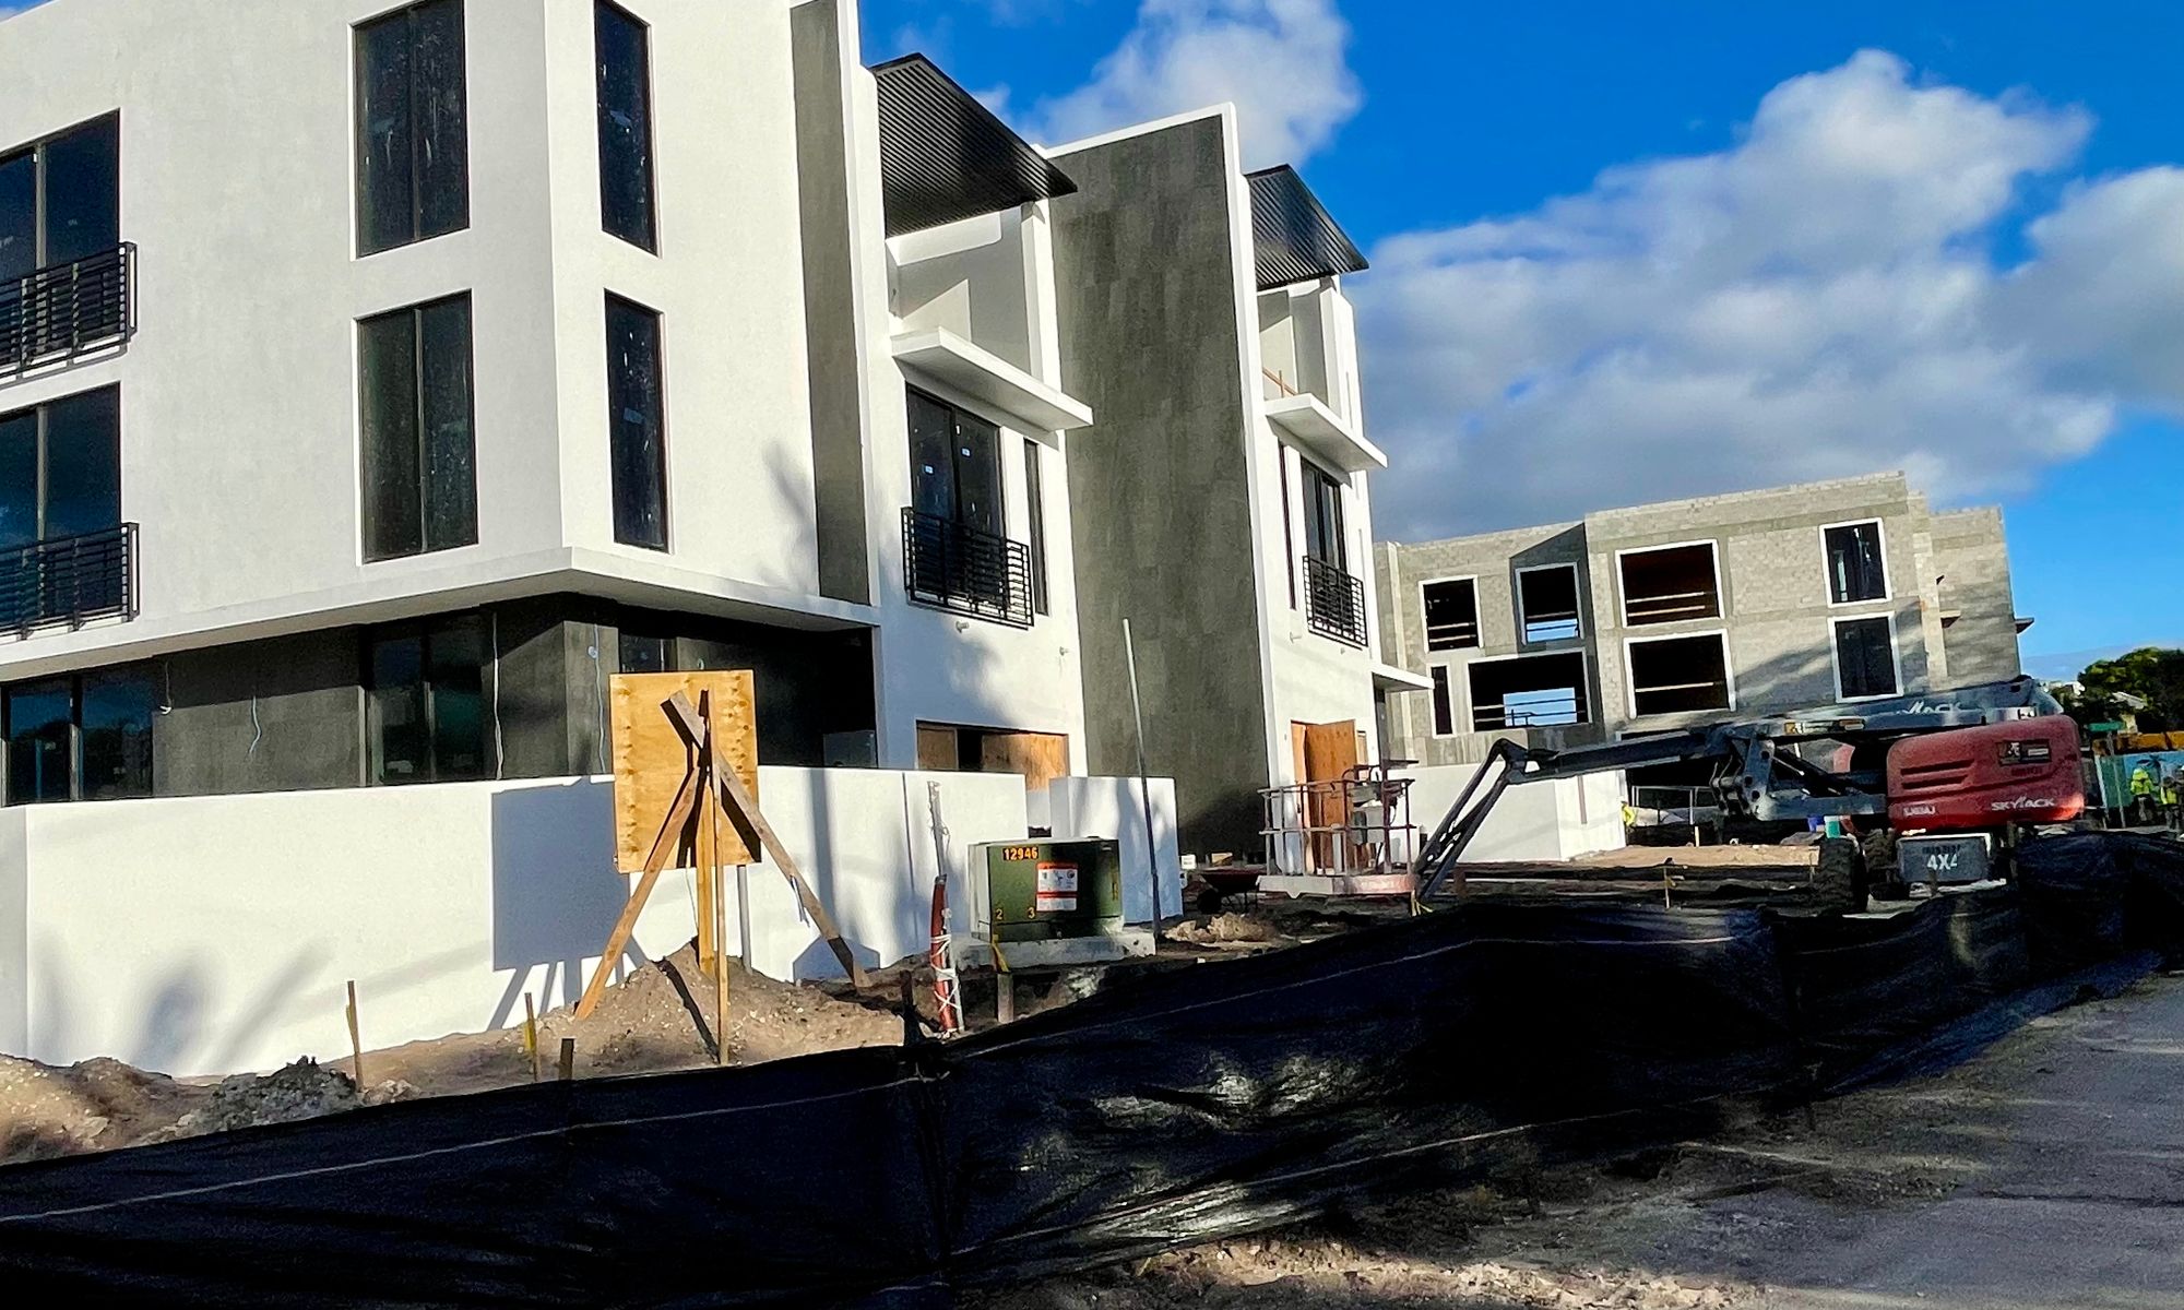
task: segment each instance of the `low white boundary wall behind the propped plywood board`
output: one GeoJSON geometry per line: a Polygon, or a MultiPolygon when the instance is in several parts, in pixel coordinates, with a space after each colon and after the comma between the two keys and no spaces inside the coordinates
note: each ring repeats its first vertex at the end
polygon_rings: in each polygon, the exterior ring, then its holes
{"type": "MultiPolygon", "coordinates": [[[[865,965],[926,950],[943,854],[961,904],[970,847],[1026,836],[1011,775],[760,769],[758,786],[865,965]]],[[[612,851],[603,779],[0,810],[0,1050],[175,1074],[334,1059],[347,980],[367,1048],[507,1026],[526,991],[539,1009],[581,993],[633,882],[612,851]]],[[[756,969],[841,972],[771,865],[747,886],[756,969]]],[[[670,873],[622,967],[692,932],[690,878],[670,873]]],[[[740,952],[738,924],[729,939],[740,952]]]]}

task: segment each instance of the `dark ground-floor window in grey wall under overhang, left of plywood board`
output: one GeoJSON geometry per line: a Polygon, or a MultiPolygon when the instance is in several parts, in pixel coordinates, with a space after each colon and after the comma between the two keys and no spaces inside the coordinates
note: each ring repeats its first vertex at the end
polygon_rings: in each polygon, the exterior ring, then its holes
{"type": "Polygon", "coordinates": [[[491,771],[485,620],[476,614],[373,635],[367,651],[371,782],[454,782],[491,771]]]}

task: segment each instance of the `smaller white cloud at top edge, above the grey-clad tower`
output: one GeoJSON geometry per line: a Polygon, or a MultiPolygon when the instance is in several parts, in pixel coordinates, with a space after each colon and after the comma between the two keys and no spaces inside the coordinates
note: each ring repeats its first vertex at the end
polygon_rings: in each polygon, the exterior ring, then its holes
{"type": "Polygon", "coordinates": [[[1029,127],[1070,142],[1234,100],[1247,166],[1302,164],[1363,103],[1334,0],[1144,0],[1138,24],[1029,127]]]}

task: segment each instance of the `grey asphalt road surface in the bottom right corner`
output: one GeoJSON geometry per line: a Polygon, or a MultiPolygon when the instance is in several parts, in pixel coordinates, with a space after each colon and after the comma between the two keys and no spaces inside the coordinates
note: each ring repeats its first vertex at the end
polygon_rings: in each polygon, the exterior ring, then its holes
{"type": "MultiPolygon", "coordinates": [[[[2057,1015],[1968,1122],[1944,1199],[1760,1203],[1767,1310],[2184,1306],[2184,982],[2057,1015]]],[[[1752,1201],[1745,1203],[1754,1210],[1752,1201]]]]}

